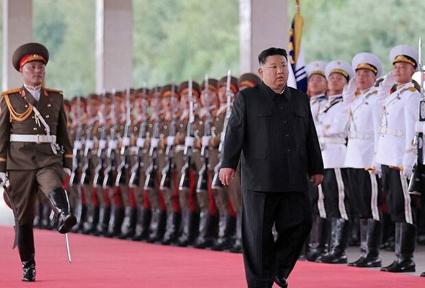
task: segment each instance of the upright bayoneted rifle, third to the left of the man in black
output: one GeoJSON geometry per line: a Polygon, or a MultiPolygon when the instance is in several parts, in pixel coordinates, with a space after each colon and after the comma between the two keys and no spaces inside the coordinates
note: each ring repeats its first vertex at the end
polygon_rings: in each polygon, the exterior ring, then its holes
{"type": "Polygon", "coordinates": [[[188,191],[191,186],[191,171],[195,171],[192,159],[192,147],[195,143],[195,134],[193,125],[195,123],[195,115],[193,113],[193,83],[192,78],[189,80],[189,123],[187,124],[186,139],[184,139],[184,158],[186,163],[182,167],[182,176],[179,182],[180,191],[188,191]]]}

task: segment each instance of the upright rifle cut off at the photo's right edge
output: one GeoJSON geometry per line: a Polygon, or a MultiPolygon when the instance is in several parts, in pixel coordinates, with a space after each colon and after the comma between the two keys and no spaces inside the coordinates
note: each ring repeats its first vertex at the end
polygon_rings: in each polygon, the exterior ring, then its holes
{"type": "MultiPolygon", "coordinates": [[[[422,66],[422,38],[419,38],[418,43],[418,67],[420,71],[420,93],[421,99],[419,102],[419,121],[415,126],[423,126],[425,122],[425,91],[424,91],[424,67],[422,66]],[[419,124],[419,125],[418,125],[419,124]]],[[[413,175],[409,182],[409,193],[420,195],[425,189],[425,171],[424,171],[424,131],[423,128],[417,130],[415,140],[413,141],[417,145],[417,160],[413,167],[413,175]]]]}

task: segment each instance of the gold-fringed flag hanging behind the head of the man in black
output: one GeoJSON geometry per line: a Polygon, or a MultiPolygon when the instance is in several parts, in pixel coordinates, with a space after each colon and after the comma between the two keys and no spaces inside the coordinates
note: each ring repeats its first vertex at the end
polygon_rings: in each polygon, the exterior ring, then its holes
{"type": "Polygon", "coordinates": [[[302,51],[301,37],[304,19],[300,14],[300,0],[297,0],[297,12],[293,16],[291,29],[289,30],[289,77],[288,86],[298,88],[298,90],[307,91],[307,73],[304,52],[302,51]]]}

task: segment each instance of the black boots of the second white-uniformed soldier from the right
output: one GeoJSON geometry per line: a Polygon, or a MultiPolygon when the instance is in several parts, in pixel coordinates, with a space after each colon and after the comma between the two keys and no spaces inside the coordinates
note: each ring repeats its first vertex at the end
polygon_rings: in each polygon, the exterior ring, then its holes
{"type": "Polygon", "coordinates": [[[361,256],[349,266],[380,267],[379,246],[383,234],[383,225],[374,219],[360,219],[361,256]]]}

